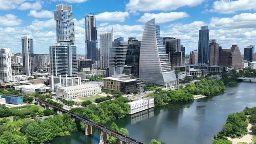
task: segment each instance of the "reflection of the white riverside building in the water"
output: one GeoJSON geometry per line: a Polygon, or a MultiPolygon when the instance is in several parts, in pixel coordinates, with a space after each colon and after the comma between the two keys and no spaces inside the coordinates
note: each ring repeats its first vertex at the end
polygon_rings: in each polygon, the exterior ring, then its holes
{"type": "Polygon", "coordinates": [[[143,121],[152,116],[154,116],[154,108],[138,112],[136,114],[131,115],[131,124],[136,124],[137,122],[143,121]]]}

